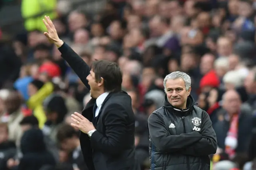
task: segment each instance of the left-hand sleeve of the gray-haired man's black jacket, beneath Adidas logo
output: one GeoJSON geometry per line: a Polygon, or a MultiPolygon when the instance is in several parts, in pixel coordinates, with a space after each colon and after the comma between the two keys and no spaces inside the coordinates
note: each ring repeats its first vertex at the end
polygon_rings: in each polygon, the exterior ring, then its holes
{"type": "Polygon", "coordinates": [[[174,153],[202,139],[198,132],[170,135],[164,121],[156,113],[148,118],[148,130],[151,142],[162,152],[174,153]]]}

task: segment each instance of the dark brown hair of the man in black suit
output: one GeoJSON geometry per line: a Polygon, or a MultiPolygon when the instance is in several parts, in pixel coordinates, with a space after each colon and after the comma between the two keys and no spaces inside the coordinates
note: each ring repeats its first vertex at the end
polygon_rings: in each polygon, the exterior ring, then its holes
{"type": "Polygon", "coordinates": [[[92,63],[95,80],[103,78],[104,90],[106,92],[120,92],[122,85],[122,72],[115,62],[97,60],[92,63]]]}

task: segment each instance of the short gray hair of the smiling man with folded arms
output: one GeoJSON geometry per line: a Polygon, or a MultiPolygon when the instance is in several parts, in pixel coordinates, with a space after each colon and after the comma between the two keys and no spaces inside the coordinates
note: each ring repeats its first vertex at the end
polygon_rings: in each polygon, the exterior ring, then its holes
{"type": "Polygon", "coordinates": [[[186,90],[188,91],[188,89],[191,87],[191,78],[190,78],[190,76],[188,76],[188,74],[186,74],[184,72],[180,72],[180,71],[172,72],[172,73],[168,74],[167,76],[165,76],[165,78],[164,78],[164,91],[166,92],[166,82],[167,82],[167,80],[169,80],[169,79],[175,80],[175,79],[178,79],[178,78],[181,78],[182,80],[184,80],[186,90]]]}

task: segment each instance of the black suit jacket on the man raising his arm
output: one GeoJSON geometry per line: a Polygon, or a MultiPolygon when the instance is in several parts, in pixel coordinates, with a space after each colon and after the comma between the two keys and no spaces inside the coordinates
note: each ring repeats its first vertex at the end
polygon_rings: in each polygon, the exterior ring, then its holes
{"type": "MultiPolygon", "coordinates": [[[[90,74],[89,66],[67,44],[64,43],[59,50],[84,85],[90,89],[86,80],[90,74]]],[[[91,122],[95,102],[96,99],[92,98],[82,111],[82,115],[91,122]]],[[[80,133],[80,144],[88,169],[138,170],[134,158],[135,116],[130,96],[126,92],[110,93],[93,122],[97,131],[91,138],[80,133]]]]}

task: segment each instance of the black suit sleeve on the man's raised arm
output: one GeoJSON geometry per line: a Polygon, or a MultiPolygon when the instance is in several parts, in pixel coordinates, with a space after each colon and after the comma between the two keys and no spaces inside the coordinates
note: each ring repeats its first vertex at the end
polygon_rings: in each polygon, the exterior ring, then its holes
{"type": "Polygon", "coordinates": [[[58,50],[61,52],[62,58],[68,62],[83,84],[90,90],[88,80],[86,80],[86,77],[90,74],[90,67],[65,42],[58,50]]]}

